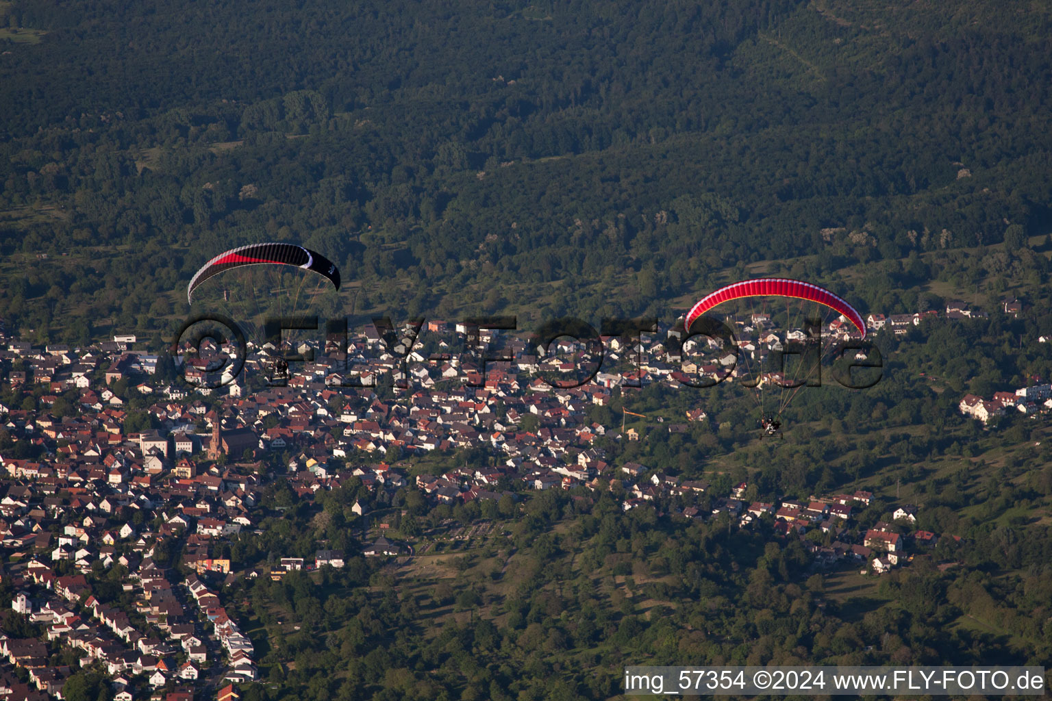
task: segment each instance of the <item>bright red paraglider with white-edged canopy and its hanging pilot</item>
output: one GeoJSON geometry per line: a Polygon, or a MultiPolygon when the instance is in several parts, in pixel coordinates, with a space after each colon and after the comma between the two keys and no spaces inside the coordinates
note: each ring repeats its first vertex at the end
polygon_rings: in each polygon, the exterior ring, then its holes
{"type": "Polygon", "coordinates": [[[866,323],[854,307],[825,288],[797,280],[762,277],[721,287],[691,307],[685,329],[717,307],[746,336],[734,339],[736,354],[744,359],[736,373],[756,399],[764,437],[782,435],[783,411],[801,387],[821,382],[822,357],[838,341],[866,337],[866,323]],[[775,323],[785,325],[781,338],[766,328],[775,323]],[[824,328],[829,332],[824,334],[824,328]]]}

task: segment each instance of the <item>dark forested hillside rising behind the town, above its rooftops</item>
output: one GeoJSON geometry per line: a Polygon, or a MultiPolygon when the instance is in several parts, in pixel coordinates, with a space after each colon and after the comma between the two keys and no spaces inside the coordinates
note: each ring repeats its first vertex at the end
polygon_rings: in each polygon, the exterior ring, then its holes
{"type": "Polygon", "coordinates": [[[342,263],[356,311],[588,315],[664,312],[741,262],[822,276],[1048,223],[1039,5],[4,12],[39,41],[0,63],[0,245],[27,283],[2,301],[44,335],[90,335],[85,309],[165,328],[201,262],[271,239],[342,263]]]}

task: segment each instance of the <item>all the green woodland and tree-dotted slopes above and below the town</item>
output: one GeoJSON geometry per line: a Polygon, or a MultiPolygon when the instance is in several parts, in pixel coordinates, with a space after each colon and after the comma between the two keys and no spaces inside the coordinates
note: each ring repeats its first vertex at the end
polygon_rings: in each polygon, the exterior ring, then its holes
{"type": "MultiPolygon", "coordinates": [[[[920,528],[959,542],[881,579],[822,575],[770,523],[687,521],[683,503],[621,513],[619,495],[582,491],[431,508],[406,490],[372,504],[406,511],[406,540],[450,519],[497,528],[443,540],[430,570],[356,557],[231,585],[224,602],[264,675],[243,698],[606,699],[624,664],[644,663],[1040,664],[1052,434],[1045,417],[984,430],[956,405],[1052,377],[1034,343],[1052,332],[1050,13],[0,2],[0,318],[38,343],[138,331],[159,348],[194,271],[262,241],[338,262],[359,326],[376,313],[671,322],[760,273],[824,283],[864,314],[962,298],[989,318],[878,336],[885,380],[802,393],[784,445],[721,428],[754,422],[733,389],[654,386],[591,409],[607,426],[622,401],[710,413],[689,434],[610,441],[619,465],[724,492],[747,477],[756,498],[871,489],[867,518],[910,499],[920,528]],[[1018,318],[998,311],[1012,296],[1018,318]]],[[[149,425],[143,401],[129,426],[149,425]]],[[[410,468],[491,457],[431,459],[410,468]]],[[[268,488],[263,535],[223,554],[245,568],[319,540],[353,551],[359,498],[360,484],[313,501],[268,488]]]]}

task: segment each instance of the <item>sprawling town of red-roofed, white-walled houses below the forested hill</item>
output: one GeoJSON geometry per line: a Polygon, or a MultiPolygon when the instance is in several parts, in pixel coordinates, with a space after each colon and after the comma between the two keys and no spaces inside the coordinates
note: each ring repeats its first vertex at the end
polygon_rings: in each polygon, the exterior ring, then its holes
{"type": "MultiPolygon", "coordinates": [[[[975,313],[962,307],[947,315],[975,313]]],[[[872,314],[867,324],[899,334],[930,314],[872,314]]],[[[740,325],[745,350],[777,346],[763,321],[740,325]]],[[[428,329],[450,330],[442,322],[428,322],[428,329]]],[[[453,329],[453,341],[437,349],[462,342],[465,332],[453,329]]],[[[850,337],[838,319],[828,332],[850,337]]],[[[483,330],[481,337],[498,335],[483,330]]],[[[917,530],[917,507],[907,503],[889,506],[890,520],[859,521],[873,503],[868,491],[762,501],[750,498],[748,482],[720,491],[671,476],[665,466],[611,465],[601,439],[640,440],[645,431],[589,420],[588,408],[609,405],[629,387],[686,386],[683,366],[690,364],[674,363],[675,344],[666,350],[658,343],[640,355],[640,342],[603,341],[606,357],[621,369],[566,389],[528,378],[570,368],[558,357],[538,358],[521,342],[505,344],[513,359],[489,365],[483,380],[468,363],[429,363],[416,350],[388,350],[375,327],[345,347],[326,344],[313,360],[290,370],[283,386],[264,382],[272,374],[266,353],[272,349],[260,349],[246,358],[244,376],[195,389],[174,369],[165,372],[168,358],[137,350],[130,334],[83,349],[35,348],[4,337],[0,359],[18,399],[0,405],[2,586],[26,631],[40,631],[0,640],[6,698],[62,698],[78,665],[97,664],[120,701],[235,701],[237,685],[259,679],[259,671],[252,641],[224,609],[227,584],[414,554],[413,543],[386,537],[386,523],[377,523],[362,528],[361,552],[319,547],[311,558],[286,554],[248,566],[231,560],[227,540],[259,533],[261,495],[277,479],[304,501],[352,478],[378,499],[416,489],[429,503],[447,506],[513,504],[532,491],[579,487],[616,489],[624,512],[680,497],[695,504],[680,517],[723,518],[729,528],[766,524],[774,538],[800,539],[818,570],[853,563],[879,574],[939,538],[956,538],[917,530]],[[405,356],[412,364],[402,374],[405,356]],[[347,367],[348,358],[363,384],[381,387],[339,387],[345,375],[333,369],[347,367]],[[384,375],[392,379],[386,392],[376,382],[384,375]],[[406,469],[413,456],[479,447],[493,456],[490,466],[439,475],[406,469]],[[276,466],[276,455],[290,457],[276,466]],[[158,564],[161,551],[177,552],[181,566],[158,564]],[[106,580],[110,572],[121,573],[118,582],[106,580]],[[54,663],[48,651],[56,648],[68,651],[68,663],[54,663]]],[[[560,342],[561,353],[573,350],[560,342]]],[[[207,364],[204,354],[189,355],[184,369],[203,377],[207,364]]],[[[720,372],[715,365],[692,369],[720,372]]],[[[686,432],[706,420],[697,408],[650,430],[686,432]]],[[[356,502],[353,510],[367,524],[369,504],[356,502]]]]}

